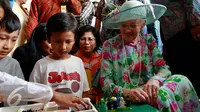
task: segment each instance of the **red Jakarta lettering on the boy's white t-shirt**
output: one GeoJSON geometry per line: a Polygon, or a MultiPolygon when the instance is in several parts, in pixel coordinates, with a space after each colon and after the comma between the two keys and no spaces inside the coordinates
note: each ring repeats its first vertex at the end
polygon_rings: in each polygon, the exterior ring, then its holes
{"type": "Polygon", "coordinates": [[[48,77],[48,82],[49,83],[60,83],[62,80],[66,81],[71,81],[71,80],[76,80],[80,82],[80,74],[77,72],[74,73],[66,73],[66,72],[61,72],[61,74],[58,74],[58,72],[50,72],[49,77],[48,77]]]}

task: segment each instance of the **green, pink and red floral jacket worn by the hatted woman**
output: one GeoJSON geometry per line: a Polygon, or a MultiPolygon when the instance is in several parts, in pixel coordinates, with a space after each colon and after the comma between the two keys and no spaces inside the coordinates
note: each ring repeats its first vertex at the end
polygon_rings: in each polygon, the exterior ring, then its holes
{"type": "Polygon", "coordinates": [[[124,45],[118,35],[105,41],[102,49],[100,84],[107,95],[142,87],[150,78],[162,83],[171,75],[152,35],[141,36],[135,45],[124,45]]]}

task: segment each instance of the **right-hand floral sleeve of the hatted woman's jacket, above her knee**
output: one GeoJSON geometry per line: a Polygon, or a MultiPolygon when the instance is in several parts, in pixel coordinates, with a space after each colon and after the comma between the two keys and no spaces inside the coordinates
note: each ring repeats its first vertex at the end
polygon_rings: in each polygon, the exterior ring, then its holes
{"type": "Polygon", "coordinates": [[[156,40],[152,35],[149,35],[147,37],[147,45],[149,50],[148,52],[152,55],[153,73],[155,73],[152,78],[162,83],[166,78],[171,75],[169,66],[167,66],[167,64],[165,63],[165,60],[163,59],[156,44],[156,40]]]}

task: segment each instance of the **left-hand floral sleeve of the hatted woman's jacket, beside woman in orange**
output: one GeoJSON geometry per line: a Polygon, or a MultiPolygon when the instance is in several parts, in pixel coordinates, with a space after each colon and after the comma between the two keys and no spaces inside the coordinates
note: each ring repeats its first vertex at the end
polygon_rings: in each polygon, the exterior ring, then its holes
{"type": "Polygon", "coordinates": [[[117,86],[114,81],[114,66],[111,58],[111,43],[104,42],[102,47],[101,76],[100,84],[105,95],[121,95],[122,87],[117,86]]]}

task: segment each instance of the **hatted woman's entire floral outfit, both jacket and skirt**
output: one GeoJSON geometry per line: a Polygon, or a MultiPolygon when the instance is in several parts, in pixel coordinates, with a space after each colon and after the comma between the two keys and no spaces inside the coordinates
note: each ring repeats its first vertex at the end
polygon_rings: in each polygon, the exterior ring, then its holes
{"type": "Polygon", "coordinates": [[[121,95],[123,88],[142,87],[153,78],[162,85],[157,99],[161,111],[200,112],[191,82],[182,75],[171,76],[152,35],[141,36],[137,45],[123,45],[120,36],[111,38],[103,45],[102,57],[100,82],[107,96],[121,95]]]}

